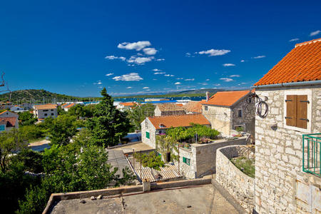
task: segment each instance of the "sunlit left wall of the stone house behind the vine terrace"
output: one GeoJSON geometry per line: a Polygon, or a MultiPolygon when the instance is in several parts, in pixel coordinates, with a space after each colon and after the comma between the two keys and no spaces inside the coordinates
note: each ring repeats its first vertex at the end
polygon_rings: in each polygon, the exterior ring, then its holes
{"type": "Polygon", "coordinates": [[[210,121],[212,128],[220,131],[223,136],[230,136],[231,128],[231,117],[232,113],[229,107],[220,106],[207,106],[208,110],[205,111],[205,106],[203,105],[203,115],[210,121]]]}

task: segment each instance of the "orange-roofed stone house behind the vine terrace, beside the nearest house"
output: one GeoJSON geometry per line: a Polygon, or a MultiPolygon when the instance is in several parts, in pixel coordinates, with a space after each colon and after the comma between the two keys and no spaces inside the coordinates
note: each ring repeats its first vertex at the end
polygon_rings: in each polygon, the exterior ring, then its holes
{"type": "Polygon", "coordinates": [[[223,136],[239,129],[254,136],[255,101],[251,91],[219,91],[202,103],[203,115],[223,136]]]}

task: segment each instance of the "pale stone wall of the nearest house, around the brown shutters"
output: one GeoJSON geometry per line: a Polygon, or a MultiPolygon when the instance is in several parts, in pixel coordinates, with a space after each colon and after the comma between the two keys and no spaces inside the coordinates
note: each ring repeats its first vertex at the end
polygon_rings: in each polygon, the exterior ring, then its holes
{"type": "Polygon", "coordinates": [[[321,133],[321,88],[258,88],[255,92],[269,107],[265,118],[255,118],[255,210],[258,213],[295,213],[296,179],[302,172],[302,134],[321,133]],[[308,95],[306,131],[285,126],[287,94],[308,95]]]}

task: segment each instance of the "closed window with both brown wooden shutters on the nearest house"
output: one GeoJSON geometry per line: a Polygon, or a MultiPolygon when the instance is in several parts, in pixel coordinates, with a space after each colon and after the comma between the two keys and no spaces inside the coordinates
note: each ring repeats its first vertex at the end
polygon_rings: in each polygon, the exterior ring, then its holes
{"type": "Polygon", "coordinates": [[[307,128],[309,122],[307,118],[307,95],[287,95],[286,96],[286,125],[297,128],[307,128]]]}

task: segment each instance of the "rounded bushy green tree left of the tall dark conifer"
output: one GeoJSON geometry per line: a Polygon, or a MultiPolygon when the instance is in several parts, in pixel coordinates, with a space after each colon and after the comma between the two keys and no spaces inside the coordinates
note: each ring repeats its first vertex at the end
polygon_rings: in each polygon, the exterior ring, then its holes
{"type": "Polygon", "coordinates": [[[76,134],[76,117],[61,115],[52,121],[49,128],[51,144],[66,145],[76,134]]]}

